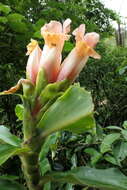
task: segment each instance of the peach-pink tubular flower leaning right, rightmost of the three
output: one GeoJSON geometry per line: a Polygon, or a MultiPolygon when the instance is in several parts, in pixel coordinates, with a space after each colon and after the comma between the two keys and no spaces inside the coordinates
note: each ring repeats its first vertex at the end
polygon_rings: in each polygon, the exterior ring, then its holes
{"type": "Polygon", "coordinates": [[[93,49],[99,41],[99,34],[92,32],[87,33],[84,36],[84,33],[84,24],[81,24],[73,31],[73,35],[76,40],[76,47],[63,61],[57,81],[69,79],[73,82],[85,66],[89,56],[95,59],[100,59],[100,55],[93,49]]]}

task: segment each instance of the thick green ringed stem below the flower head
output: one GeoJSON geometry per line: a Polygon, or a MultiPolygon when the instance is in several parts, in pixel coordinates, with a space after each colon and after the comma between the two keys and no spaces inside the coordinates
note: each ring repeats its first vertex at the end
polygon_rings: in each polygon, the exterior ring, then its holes
{"type": "Polygon", "coordinates": [[[39,152],[41,150],[41,140],[36,135],[36,121],[32,117],[30,104],[28,100],[24,100],[24,119],[23,119],[23,134],[24,142],[22,147],[29,148],[29,152],[20,156],[22,163],[22,171],[26,179],[29,190],[42,190],[43,186],[39,185],[41,179],[39,169],[39,152]]]}

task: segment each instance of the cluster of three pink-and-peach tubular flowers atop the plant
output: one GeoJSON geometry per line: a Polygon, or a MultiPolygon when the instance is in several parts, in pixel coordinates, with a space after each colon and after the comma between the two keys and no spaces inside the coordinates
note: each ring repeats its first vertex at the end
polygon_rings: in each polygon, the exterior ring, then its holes
{"type": "Polygon", "coordinates": [[[43,50],[35,40],[31,40],[27,46],[29,58],[26,75],[33,84],[36,84],[37,75],[42,68],[48,83],[66,79],[73,82],[90,56],[100,59],[100,55],[93,49],[99,41],[99,34],[95,32],[85,34],[85,25],[81,24],[72,33],[75,36],[76,46],[62,62],[64,42],[70,38],[68,35],[70,23],[71,20],[66,19],[63,25],[58,21],[45,24],[41,28],[45,41],[43,50]]]}

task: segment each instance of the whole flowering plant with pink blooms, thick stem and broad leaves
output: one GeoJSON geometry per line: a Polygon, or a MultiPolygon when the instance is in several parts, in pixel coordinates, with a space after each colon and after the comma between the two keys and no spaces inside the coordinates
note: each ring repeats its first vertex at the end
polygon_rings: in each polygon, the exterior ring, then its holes
{"type": "MultiPolygon", "coordinates": [[[[104,178],[99,183],[103,170],[89,167],[78,167],[64,173],[53,172],[51,168],[50,172],[45,170],[45,164],[49,163],[46,157],[49,145],[57,138],[58,131],[95,133],[91,94],[74,81],[89,57],[100,59],[94,50],[99,35],[95,32],[85,34],[85,25],[81,24],[72,33],[76,45],[63,60],[62,50],[65,41],[70,38],[70,24],[70,19],[63,24],[58,21],[45,24],[41,28],[45,42],[43,49],[33,39],[27,46],[26,79],[20,79],[17,85],[0,93],[16,94],[23,102],[16,107],[22,113],[23,139],[11,134],[5,126],[0,126],[0,164],[18,155],[29,190],[51,189],[52,181],[125,189],[122,183],[113,186],[104,178]]],[[[110,179],[114,173],[114,170],[106,170],[106,178],[110,179]]],[[[15,183],[16,187],[25,189],[15,183]]]]}

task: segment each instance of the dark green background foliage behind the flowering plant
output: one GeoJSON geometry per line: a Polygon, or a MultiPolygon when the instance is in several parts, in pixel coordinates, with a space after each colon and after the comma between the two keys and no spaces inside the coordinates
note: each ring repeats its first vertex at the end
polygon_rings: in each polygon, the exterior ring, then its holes
{"type": "MultiPolygon", "coordinates": [[[[123,122],[127,115],[127,54],[126,48],[110,47],[105,38],[113,34],[110,20],[118,16],[104,7],[99,0],[1,0],[0,2],[0,91],[8,89],[20,78],[25,77],[27,57],[26,45],[30,38],[39,40],[41,26],[50,20],[72,19],[72,30],[81,23],[86,24],[87,32],[95,31],[101,35],[97,51],[102,59],[90,59],[77,79],[83,87],[90,90],[95,103],[97,136],[90,134],[74,135],[69,132],[57,134],[47,149],[48,160],[56,171],[67,171],[75,166],[89,165],[96,168],[119,167],[126,174],[126,135],[120,129],[105,129],[106,126],[120,126],[126,130],[123,122]],[[108,140],[106,140],[108,139],[108,140]],[[110,140],[109,140],[110,139],[110,140]],[[104,147],[104,141],[108,145],[104,147]],[[124,154],[121,156],[121,152],[124,154]],[[116,153],[117,152],[117,153],[116,153]]],[[[64,55],[72,49],[74,39],[67,42],[64,55]]],[[[63,56],[64,56],[63,55],[63,56]]],[[[1,97],[0,124],[11,127],[14,134],[21,136],[21,121],[14,113],[19,102],[16,97],[1,97]]],[[[126,134],[126,133],[125,133],[126,134]]],[[[48,160],[47,170],[50,170],[48,160]]],[[[1,174],[19,175],[19,160],[12,159],[4,164],[1,174]],[[11,162],[11,164],[10,164],[11,162]],[[12,171],[12,168],[16,168],[12,171]]],[[[55,184],[57,186],[57,184],[55,184]]],[[[61,189],[65,189],[62,184],[61,189]]],[[[54,187],[57,188],[57,187],[54,187]]],[[[66,190],[74,187],[66,185],[66,190]]],[[[82,189],[76,186],[75,189],[82,189]]]]}

